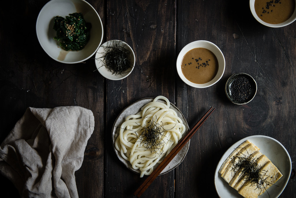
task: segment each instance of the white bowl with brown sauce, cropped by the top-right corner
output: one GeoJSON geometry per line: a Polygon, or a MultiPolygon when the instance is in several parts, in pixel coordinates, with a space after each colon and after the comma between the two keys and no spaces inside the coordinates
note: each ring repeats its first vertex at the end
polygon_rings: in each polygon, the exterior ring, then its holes
{"type": "Polygon", "coordinates": [[[254,18],[271,28],[284,27],[296,20],[296,0],[250,0],[254,18]]]}

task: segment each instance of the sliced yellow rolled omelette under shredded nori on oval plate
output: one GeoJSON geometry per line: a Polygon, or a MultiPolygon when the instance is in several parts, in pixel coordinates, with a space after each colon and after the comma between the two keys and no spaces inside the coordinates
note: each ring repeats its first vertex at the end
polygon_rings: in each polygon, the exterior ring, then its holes
{"type": "Polygon", "coordinates": [[[221,165],[219,173],[231,187],[246,198],[258,197],[283,176],[277,167],[259,151],[259,148],[248,140],[239,145],[227,157],[221,165]],[[259,185],[255,182],[258,180],[250,178],[250,174],[246,172],[247,167],[237,168],[238,163],[244,164],[242,163],[244,161],[248,161],[249,167],[260,170],[261,182],[258,183],[263,184],[259,185]]]}

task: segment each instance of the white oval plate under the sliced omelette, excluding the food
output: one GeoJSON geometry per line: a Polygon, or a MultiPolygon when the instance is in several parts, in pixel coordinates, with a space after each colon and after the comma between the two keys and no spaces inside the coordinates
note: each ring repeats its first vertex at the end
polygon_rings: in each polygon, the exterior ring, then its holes
{"type": "Polygon", "coordinates": [[[220,161],[218,162],[217,168],[215,170],[215,188],[216,191],[221,198],[230,198],[230,197],[237,197],[242,198],[238,192],[229,186],[229,184],[221,177],[218,173],[221,165],[225,161],[225,159],[231,154],[231,152],[236,149],[241,143],[244,141],[249,140],[255,146],[260,149],[260,152],[279,169],[279,171],[283,174],[283,177],[279,179],[275,183],[275,185],[271,186],[267,189],[267,192],[260,195],[258,198],[272,198],[272,197],[279,197],[279,195],[285,189],[288,180],[290,178],[292,163],[291,158],[289,156],[288,151],[285,147],[274,138],[264,136],[264,135],[253,135],[246,138],[239,140],[237,143],[232,145],[222,156],[220,161]]]}

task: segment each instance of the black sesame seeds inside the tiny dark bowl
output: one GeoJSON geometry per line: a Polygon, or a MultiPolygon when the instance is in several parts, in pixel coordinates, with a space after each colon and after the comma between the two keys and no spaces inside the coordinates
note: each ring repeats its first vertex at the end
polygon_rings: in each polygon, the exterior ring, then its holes
{"type": "Polygon", "coordinates": [[[238,77],[230,86],[230,94],[232,98],[238,102],[248,100],[251,91],[251,84],[245,77],[238,77]]]}

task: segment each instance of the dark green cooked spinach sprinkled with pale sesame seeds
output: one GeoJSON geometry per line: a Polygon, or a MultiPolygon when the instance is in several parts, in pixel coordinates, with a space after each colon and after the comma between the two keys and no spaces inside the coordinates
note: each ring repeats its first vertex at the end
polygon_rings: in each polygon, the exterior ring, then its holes
{"type": "Polygon", "coordinates": [[[83,49],[90,39],[91,23],[87,23],[82,13],[69,14],[70,16],[54,18],[53,29],[57,31],[54,40],[62,41],[59,43],[66,51],[78,51],[83,49]]]}

